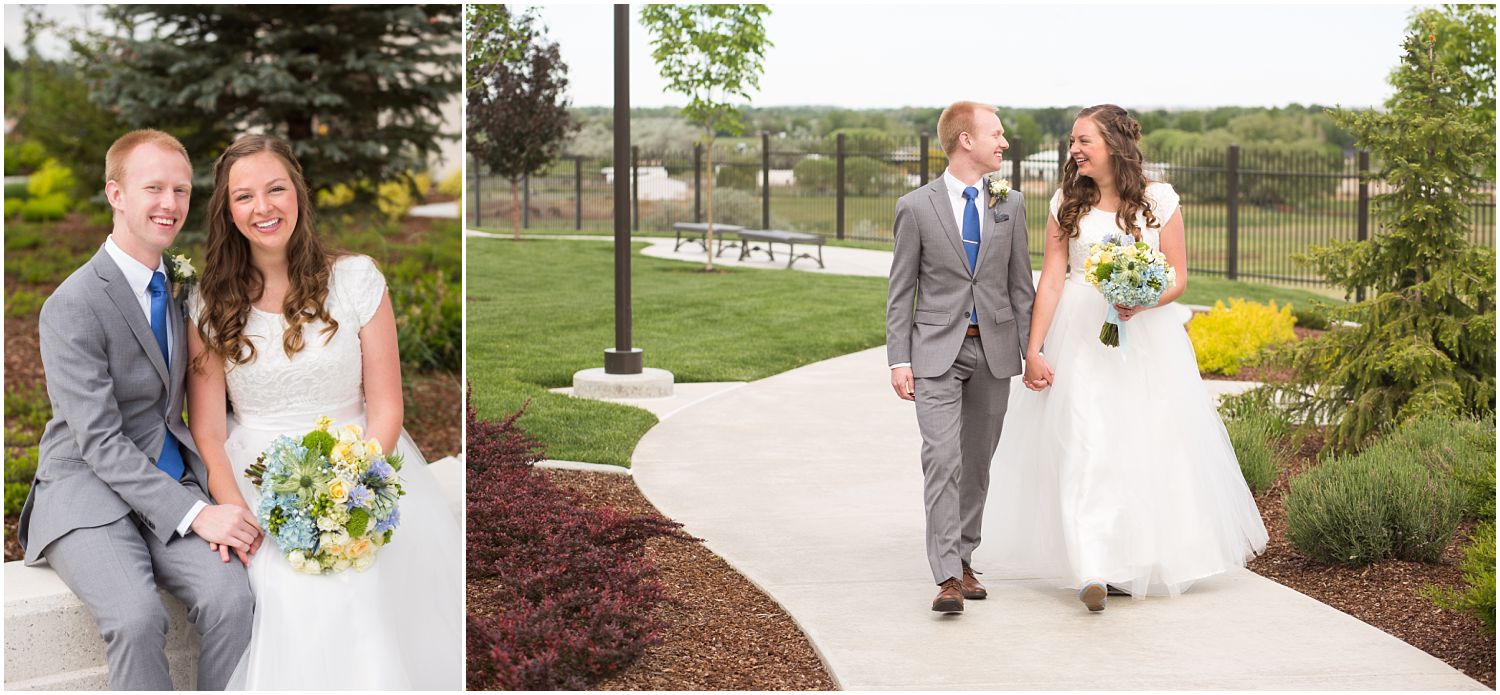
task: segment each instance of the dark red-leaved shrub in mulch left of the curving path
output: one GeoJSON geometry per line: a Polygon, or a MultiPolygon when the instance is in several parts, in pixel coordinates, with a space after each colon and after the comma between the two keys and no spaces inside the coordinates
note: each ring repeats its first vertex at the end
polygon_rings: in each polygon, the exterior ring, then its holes
{"type": "Polygon", "coordinates": [[[468,617],[468,687],[585,689],[660,638],[651,615],[669,599],[645,543],[687,536],[666,519],[585,509],[531,468],[543,452],[519,416],[468,410],[468,579],[498,587],[486,603],[500,606],[468,617]]]}

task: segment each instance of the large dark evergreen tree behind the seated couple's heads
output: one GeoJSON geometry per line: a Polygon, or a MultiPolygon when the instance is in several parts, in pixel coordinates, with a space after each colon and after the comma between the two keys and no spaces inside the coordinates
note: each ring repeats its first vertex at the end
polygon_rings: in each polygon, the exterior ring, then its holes
{"type": "MultiPolygon", "coordinates": [[[[116,32],[75,44],[93,99],[171,131],[200,176],[236,135],[286,138],[315,189],[428,168],[460,89],[452,5],[114,5],[116,32]]],[[[207,173],[207,174],[206,174],[207,173]]],[[[360,185],[364,183],[364,185],[360,185]]],[[[200,186],[200,194],[207,186],[200,186]]]]}

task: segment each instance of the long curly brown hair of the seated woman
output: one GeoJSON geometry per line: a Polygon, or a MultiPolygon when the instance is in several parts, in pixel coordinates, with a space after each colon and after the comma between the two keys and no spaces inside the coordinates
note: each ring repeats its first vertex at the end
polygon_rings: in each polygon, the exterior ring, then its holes
{"type": "MultiPolygon", "coordinates": [[[[266,278],[250,263],[250,242],[234,227],[230,212],[230,170],[240,159],[270,153],[286,167],[288,179],[297,192],[297,224],[286,240],[286,279],[290,288],[282,300],[282,318],[286,330],[282,350],[291,357],[303,348],[302,329],[321,320],[324,342],[333,339],[339,321],[328,314],[328,275],[333,260],[340,254],[330,252],[314,233],[312,198],[302,164],[291,146],[270,135],[243,135],[219,155],[213,165],[213,195],[208,198],[208,248],[204,255],[202,279],[198,293],[202,297],[202,314],[198,317],[198,336],[207,351],[225,360],[226,366],[255,362],[255,345],[244,336],[244,321],[250,306],[266,291],[266,278]]],[[[201,366],[200,363],[194,365],[201,366]]]]}

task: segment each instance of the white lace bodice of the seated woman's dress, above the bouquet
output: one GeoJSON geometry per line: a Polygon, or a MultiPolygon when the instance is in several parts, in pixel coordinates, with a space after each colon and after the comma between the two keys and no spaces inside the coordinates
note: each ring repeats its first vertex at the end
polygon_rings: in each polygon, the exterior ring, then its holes
{"type": "MultiPolygon", "coordinates": [[[[346,255],[334,261],[328,276],[328,314],[339,330],[324,344],[322,321],[303,326],[303,348],[286,357],[280,314],[250,308],[244,335],[255,344],[255,362],[225,374],[230,402],[237,417],[314,417],[346,410],[364,399],[360,327],[375,315],[386,296],[386,278],[375,261],[346,255]]],[[[196,324],[202,300],[196,287],[188,299],[188,315],[196,324]]]]}

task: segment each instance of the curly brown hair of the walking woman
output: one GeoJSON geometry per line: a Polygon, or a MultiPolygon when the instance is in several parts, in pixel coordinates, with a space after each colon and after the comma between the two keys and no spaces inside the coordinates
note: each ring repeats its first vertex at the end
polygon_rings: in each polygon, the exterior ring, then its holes
{"type": "MultiPolygon", "coordinates": [[[[1114,189],[1120,195],[1120,207],[1114,212],[1114,224],[1138,242],[1142,228],[1136,216],[1146,216],[1146,227],[1160,228],[1156,215],[1146,200],[1144,156],[1140,153],[1140,123],[1120,107],[1101,104],[1078,111],[1077,119],[1089,119],[1100,126],[1104,146],[1110,150],[1110,171],[1114,173],[1114,189]]],[[[1072,158],[1062,162],[1062,204],[1058,206],[1058,227],[1065,239],[1078,237],[1078,221],[1100,203],[1100,186],[1094,179],[1078,176],[1078,162],[1072,158]]]]}

